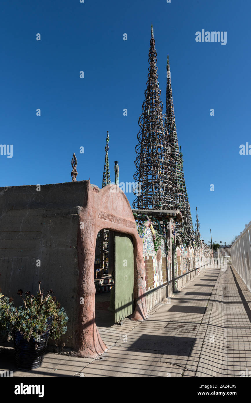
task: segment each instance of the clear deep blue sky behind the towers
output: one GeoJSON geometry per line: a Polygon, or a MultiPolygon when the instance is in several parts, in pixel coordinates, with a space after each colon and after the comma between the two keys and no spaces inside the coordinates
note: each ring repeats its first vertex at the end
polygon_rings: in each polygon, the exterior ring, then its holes
{"type": "MultiPolygon", "coordinates": [[[[75,152],[77,179],[101,187],[107,130],[111,179],[118,160],[120,181],[133,181],[152,23],[164,108],[170,57],[194,224],[197,206],[206,242],[210,228],[215,242],[239,235],[251,220],[251,156],[239,154],[241,144],[251,144],[249,2],[33,0],[0,7],[0,143],[13,145],[12,158],[0,155],[0,186],[71,181],[75,152]],[[227,44],[195,42],[202,29],[226,31],[227,44]]],[[[134,195],[127,196],[132,205],[134,195]]]]}

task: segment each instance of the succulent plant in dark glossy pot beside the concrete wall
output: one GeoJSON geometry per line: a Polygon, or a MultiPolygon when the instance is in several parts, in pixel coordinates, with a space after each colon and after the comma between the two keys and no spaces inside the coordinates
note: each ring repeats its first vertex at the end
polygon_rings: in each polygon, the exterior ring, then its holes
{"type": "Polygon", "coordinates": [[[0,294],[0,331],[8,335],[7,340],[14,339],[16,366],[18,369],[30,370],[38,368],[43,362],[49,337],[56,345],[62,334],[66,333],[68,316],[52,290],[44,294],[40,289],[37,295],[23,290],[18,294],[23,299],[23,305],[18,308],[12,305],[12,298],[0,294]]]}

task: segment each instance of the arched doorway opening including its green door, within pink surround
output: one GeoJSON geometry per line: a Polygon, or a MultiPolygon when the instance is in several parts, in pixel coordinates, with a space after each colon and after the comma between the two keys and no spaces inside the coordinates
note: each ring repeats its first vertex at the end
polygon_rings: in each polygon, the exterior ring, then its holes
{"type": "Polygon", "coordinates": [[[98,233],[95,254],[95,322],[105,329],[134,312],[134,245],[132,236],[109,231],[109,242],[98,233]],[[101,245],[101,247],[99,247],[101,245]],[[105,250],[108,249],[108,253],[105,250]],[[104,262],[104,256],[108,256],[104,262]],[[104,269],[105,268],[105,269],[104,269]]]}

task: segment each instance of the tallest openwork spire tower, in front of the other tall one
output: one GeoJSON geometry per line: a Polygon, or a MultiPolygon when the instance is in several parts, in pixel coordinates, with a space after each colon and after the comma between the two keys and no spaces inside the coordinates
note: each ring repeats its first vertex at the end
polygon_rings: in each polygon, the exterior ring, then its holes
{"type": "Polygon", "coordinates": [[[141,191],[135,193],[134,208],[152,210],[173,210],[175,208],[173,189],[173,161],[170,156],[169,135],[165,126],[163,103],[157,74],[157,53],[153,27],[149,50],[148,81],[145,100],[138,124],[138,144],[134,180],[141,184],[141,191]]]}

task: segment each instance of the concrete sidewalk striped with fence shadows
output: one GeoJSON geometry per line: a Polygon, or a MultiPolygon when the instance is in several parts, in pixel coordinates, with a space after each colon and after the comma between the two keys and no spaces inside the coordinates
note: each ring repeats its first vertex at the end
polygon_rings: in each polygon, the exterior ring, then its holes
{"type": "Polygon", "coordinates": [[[251,293],[233,268],[211,268],[154,307],[144,322],[99,328],[109,349],[97,359],[47,353],[37,370],[13,376],[241,376],[251,370],[251,293]],[[250,364],[250,368],[249,368],[250,364]]]}

